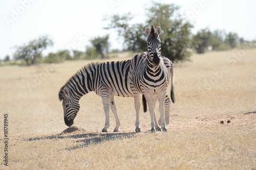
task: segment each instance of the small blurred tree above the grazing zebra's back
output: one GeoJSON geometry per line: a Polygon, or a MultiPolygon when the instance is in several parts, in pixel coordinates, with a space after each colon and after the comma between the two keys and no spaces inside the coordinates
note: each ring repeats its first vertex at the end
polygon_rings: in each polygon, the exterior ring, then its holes
{"type": "Polygon", "coordinates": [[[90,40],[97,54],[101,56],[101,59],[105,58],[109,53],[109,35],[103,37],[96,37],[90,40]]]}

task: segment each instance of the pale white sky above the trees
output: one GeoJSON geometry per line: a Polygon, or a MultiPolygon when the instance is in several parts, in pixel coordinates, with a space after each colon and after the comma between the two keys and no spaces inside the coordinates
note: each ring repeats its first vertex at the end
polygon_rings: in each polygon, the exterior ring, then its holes
{"type": "MultiPolygon", "coordinates": [[[[180,14],[193,23],[192,32],[209,28],[236,32],[245,40],[256,40],[256,1],[252,0],[159,0],[180,6],[180,14]]],[[[105,30],[104,16],[131,12],[133,23],[147,18],[145,8],[154,6],[146,0],[0,0],[0,58],[12,58],[15,46],[49,35],[54,45],[44,52],[85,51],[90,39],[110,35],[111,49],[122,50],[116,30],[105,30]]],[[[156,26],[155,26],[156,27],[156,26]]],[[[143,32],[144,30],[142,30],[143,32]]]]}

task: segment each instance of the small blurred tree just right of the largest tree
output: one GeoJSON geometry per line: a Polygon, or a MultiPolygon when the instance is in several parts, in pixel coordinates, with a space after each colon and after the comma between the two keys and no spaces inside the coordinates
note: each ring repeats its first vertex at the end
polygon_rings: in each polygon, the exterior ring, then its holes
{"type": "Polygon", "coordinates": [[[193,46],[196,48],[197,53],[202,54],[208,47],[211,41],[211,32],[209,29],[202,29],[193,36],[193,46]]]}

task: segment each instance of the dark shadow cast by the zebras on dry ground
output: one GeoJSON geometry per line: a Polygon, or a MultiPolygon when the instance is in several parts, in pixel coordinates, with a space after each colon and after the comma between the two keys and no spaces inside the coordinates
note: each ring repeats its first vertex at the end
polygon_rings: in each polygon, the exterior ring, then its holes
{"type": "MultiPolygon", "coordinates": [[[[85,132],[85,131],[84,131],[85,132]]],[[[111,141],[111,140],[122,140],[122,139],[129,139],[129,138],[134,138],[137,137],[136,132],[119,132],[119,133],[96,133],[96,132],[91,132],[91,133],[82,133],[82,134],[71,134],[72,132],[61,132],[60,134],[57,135],[51,135],[51,136],[43,136],[43,137],[35,137],[35,138],[29,138],[26,139],[27,141],[37,141],[37,140],[46,140],[46,139],[78,139],[78,140],[73,140],[74,143],[76,143],[75,147],[71,148],[66,148],[65,150],[68,151],[73,151],[76,149],[81,149],[81,148],[87,148],[89,145],[92,144],[99,144],[102,142],[106,141],[111,141]],[[70,133],[70,135],[67,135],[70,133]]]]}

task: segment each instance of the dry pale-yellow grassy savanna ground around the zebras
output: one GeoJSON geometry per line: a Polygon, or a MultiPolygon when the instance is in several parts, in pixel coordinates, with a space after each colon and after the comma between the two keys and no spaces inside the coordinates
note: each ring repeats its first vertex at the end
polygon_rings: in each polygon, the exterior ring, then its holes
{"type": "Polygon", "coordinates": [[[256,169],[256,49],[210,52],[176,63],[168,132],[156,133],[150,133],[150,115],[142,109],[142,132],[135,133],[133,98],[120,97],[120,132],[113,133],[111,113],[109,132],[102,133],[105,116],[94,92],[80,100],[74,127],[65,131],[58,91],[89,62],[0,67],[1,169],[256,169]]]}

